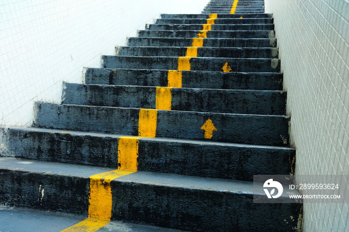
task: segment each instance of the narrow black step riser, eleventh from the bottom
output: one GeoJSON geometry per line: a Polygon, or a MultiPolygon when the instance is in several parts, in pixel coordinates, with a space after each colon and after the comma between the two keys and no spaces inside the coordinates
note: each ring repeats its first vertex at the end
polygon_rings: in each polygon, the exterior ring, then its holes
{"type": "MultiPolygon", "coordinates": [[[[229,9],[230,10],[230,9],[229,9]]],[[[158,18],[155,24],[206,24],[207,20],[202,18],[158,18]]],[[[217,18],[214,24],[271,24],[273,18],[217,18]]]]}

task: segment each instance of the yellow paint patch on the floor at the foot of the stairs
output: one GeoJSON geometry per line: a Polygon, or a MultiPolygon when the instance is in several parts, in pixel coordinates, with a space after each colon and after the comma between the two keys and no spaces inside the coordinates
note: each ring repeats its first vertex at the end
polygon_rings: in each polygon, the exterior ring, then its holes
{"type": "Polygon", "coordinates": [[[87,218],[62,232],[94,232],[110,223],[110,220],[87,218]]]}

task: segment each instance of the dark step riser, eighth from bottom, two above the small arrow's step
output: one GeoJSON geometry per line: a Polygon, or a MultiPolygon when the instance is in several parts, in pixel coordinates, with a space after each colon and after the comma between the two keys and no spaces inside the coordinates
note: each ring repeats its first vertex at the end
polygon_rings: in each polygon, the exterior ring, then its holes
{"type": "MultiPolygon", "coordinates": [[[[192,38],[128,38],[128,46],[152,47],[191,47],[192,38]]],[[[203,47],[276,47],[276,38],[273,39],[228,39],[203,38],[203,47]]]]}

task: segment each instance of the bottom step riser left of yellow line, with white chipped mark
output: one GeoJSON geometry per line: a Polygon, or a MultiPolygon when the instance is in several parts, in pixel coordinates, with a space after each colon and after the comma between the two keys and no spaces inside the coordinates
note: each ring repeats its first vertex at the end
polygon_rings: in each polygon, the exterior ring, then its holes
{"type": "Polygon", "coordinates": [[[1,204],[87,215],[88,178],[0,168],[0,180],[1,204]]]}

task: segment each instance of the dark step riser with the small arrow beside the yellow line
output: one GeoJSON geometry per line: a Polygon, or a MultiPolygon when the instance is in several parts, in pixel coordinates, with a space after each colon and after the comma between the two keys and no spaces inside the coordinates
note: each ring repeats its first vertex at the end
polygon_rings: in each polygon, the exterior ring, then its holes
{"type": "Polygon", "coordinates": [[[165,69],[222,72],[229,66],[234,72],[279,72],[279,59],[184,57],[185,68],[178,68],[178,57],[159,56],[102,56],[102,68],[165,69]],[[188,61],[188,62],[187,62],[188,61]]]}

